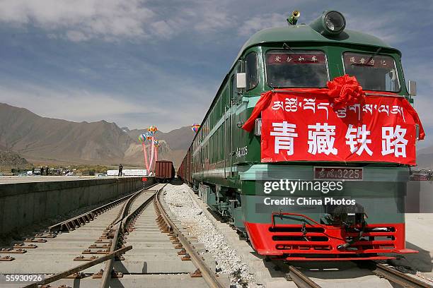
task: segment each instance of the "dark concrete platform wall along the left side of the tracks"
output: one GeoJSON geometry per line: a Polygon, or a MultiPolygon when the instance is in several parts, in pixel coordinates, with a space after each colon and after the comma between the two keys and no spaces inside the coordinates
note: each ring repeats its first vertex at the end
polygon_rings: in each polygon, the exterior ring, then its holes
{"type": "Polygon", "coordinates": [[[0,235],[142,188],[142,177],[0,184],[0,235]]]}

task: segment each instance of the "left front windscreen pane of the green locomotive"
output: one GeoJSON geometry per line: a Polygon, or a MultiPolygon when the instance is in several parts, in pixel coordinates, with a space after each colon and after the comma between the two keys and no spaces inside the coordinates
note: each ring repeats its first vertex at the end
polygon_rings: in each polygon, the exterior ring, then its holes
{"type": "Polygon", "coordinates": [[[324,88],[329,80],[325,53],[287,50],[267,52],[266,79],[273,88],[324,88]]]}

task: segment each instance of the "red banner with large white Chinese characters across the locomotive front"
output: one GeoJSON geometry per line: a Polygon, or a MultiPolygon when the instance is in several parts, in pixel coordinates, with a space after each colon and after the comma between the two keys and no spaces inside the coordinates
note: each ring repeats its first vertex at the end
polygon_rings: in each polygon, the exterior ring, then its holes
{"type": "Polygon", "coordinates": [[[262,162],[362,161],[415,165],[415,124],[420,123],[404,97],[391,93],[369,95],[361,103],[333,109],[328,95],[323,93],[303,90],[268,93],[270,99],[261,110],[262,162]]]}

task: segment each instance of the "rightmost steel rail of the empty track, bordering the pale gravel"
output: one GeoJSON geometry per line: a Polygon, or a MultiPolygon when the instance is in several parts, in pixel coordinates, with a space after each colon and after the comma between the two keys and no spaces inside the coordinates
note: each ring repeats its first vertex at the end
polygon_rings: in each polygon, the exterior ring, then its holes
{"type": "Polygon", "coordinates": [[[183,248],[185,248],[185,251],[190,255],[192,263],[194,263],[195,267],[200,270],[204,281],[209,285],[209,287],[225,287],[224,284],[221,283],[217,275],[207,267],[206,263],[204,263],[204,260],[202,260],[202,257],[197,253],[197,251],[195,251],[195,248],[192,248],[190,241],[186,239],[183,233],[180,232],[178,227],[176,227],[175,224],[171,221],[170,217],[168,217],[167,212],[163,208],[163,205],[161,205],[161,201],[159,199],[161,197],[161,191],[162,189],[156,192],[155,203],[159,212],[161,212],[161,216],[163,217],[164,222],[166,222],[166,224],[168,225],[168,229],[174,234],[177,234],[180,244],[182,244],[183,248]]]}

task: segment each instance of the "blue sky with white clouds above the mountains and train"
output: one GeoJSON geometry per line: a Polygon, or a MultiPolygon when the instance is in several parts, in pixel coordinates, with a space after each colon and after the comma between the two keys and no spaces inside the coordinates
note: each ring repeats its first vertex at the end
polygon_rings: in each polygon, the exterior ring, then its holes
{"type": "MultiPolygon", "coordinates": [[[[417,80],[433,132],[433,1],[0,0],[0,102],[71,121],[200,122],[243,42],[334,8],[383,38],[417,80]]],[[[429,137],[422,145],[429,143],[429,137]]]]}

